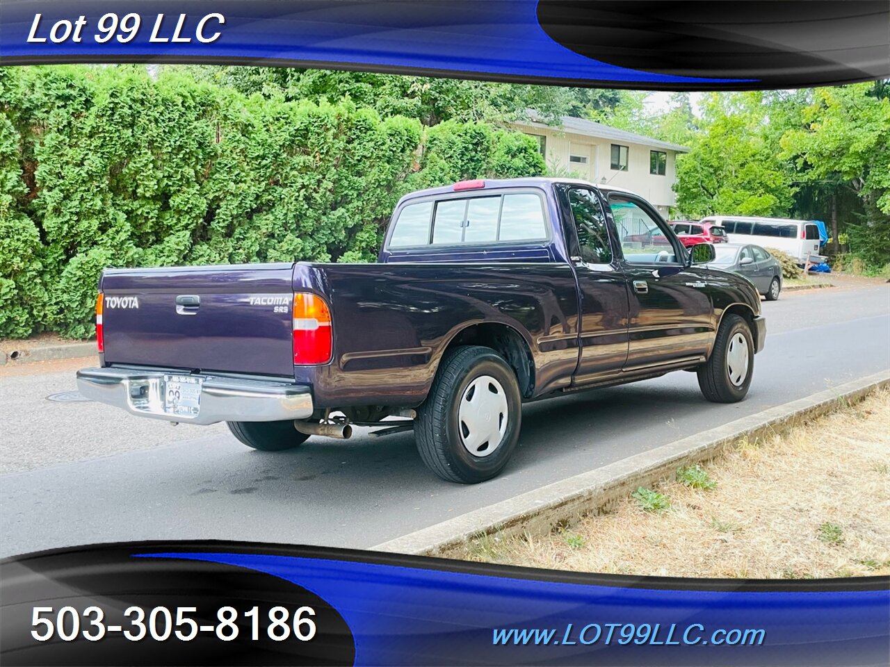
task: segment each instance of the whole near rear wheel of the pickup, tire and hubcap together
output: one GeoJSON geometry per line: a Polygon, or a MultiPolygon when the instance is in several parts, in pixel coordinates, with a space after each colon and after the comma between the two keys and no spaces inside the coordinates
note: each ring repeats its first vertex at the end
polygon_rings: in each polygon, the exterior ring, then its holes
{"type": "Polygon", "coordinates": [[[513,369],[494,350],[468,345],[441,361],[417,411],[417,451],[440,478],[476,484],[504,470],[521,423],[513,369]]]}

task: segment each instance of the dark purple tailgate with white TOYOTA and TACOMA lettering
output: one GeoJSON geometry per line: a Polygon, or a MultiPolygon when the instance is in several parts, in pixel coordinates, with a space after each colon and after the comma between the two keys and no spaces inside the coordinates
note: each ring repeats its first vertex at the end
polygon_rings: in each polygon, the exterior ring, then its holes
{"type": "Polygon", "coordinates": [[[293,269],[106,270],[106,364],[293,377],[293,269]]]}

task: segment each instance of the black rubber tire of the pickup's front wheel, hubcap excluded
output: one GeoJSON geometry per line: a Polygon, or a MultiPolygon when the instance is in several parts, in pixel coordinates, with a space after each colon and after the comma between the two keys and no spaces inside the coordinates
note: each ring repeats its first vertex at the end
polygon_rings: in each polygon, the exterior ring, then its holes
{"type": "MultiPolygon", "coordinates": [[[[738,374],[739,369],[733,371],[738,374]]],[[[708,361],[699,366],[698,374],[701,393],[712,403],[738,403],[745,398],[754,375],[754,338],[751,335],[751,327],[744,317],[731,313],[723,318],[717,330],[714,350],[711,350],[708,361]],[[730,366],[727,364],[731,346],[735,350],[734,346],[740,343],[737,335],[744,339],[748,349],[745,375],[738,383],[732,382],[730,366]]]]}

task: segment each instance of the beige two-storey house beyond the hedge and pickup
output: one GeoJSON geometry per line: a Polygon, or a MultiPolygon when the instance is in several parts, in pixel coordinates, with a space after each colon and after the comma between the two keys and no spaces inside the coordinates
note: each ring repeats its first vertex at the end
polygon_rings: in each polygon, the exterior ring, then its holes
{"type": "Polygon", "coordinates": [[[677,154],[689,152],[684,146],[570,116],[560,126],[533,120],[510,125],[538,140],[551,172],[633,190],[665,218],[676,205],[671,186],[677,154]]]}

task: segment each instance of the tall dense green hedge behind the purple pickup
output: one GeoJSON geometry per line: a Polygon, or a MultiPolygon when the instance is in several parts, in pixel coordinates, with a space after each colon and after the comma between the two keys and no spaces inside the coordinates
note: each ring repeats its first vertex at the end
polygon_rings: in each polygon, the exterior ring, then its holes
{"type": "Polygon", "coordinates": [[[522,133],[142,66],[0,68],[0,109],[6,337],[90,335],[105,267],[373,261],[405,192],[546,170],[522,133]]]}

